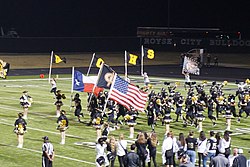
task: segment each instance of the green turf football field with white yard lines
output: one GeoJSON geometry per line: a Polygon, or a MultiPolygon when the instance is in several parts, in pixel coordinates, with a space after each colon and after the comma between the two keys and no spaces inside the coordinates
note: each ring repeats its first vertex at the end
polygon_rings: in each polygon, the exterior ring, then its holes
{"type": "MultiPolygon", "coordinates": [[[[64,106],[62,109],[67,111],[67,117],[69,118],[69,129],[66,131],[66,144],[60,145],[60,134],[56,130],[56,117],[54,105],[55,99],[53,94],[49,91],[51,89],[47,79],[39,79],[37,76],[23,76],[23,77],[9,77],[8,80],[0,80],[0,166],[2,167],[37,167],[41,166],[42,157],[42,137],[47,135],[50,141],[53,143],[56,157],[54,160],[54,166],[73,167],[73,166],[95,166],[95,149],[92,145],[96,139],[96,132],[93,127],[86,126],[77,122],[77,118],[74,116],[74,112],[70,112],[70,94],[71,94],[71,76],[62,75],[59,76],[57,87],[62,90],[66,95],[66,99],[63,100],[64,106]],[[32,107],[29,109],[28,114],[28,132],[24,135],[24,148],[17,148],[17,138],[13,133],[14,121],[17,118],[17,113],[22,111],[19,104],[19,98],[24,90],[28,90],[29,94],[33,98],[32,107]],[[90,143],[91,142],[91,143],[90,143]]],[[[132,82],[137,81],[142,84],[142,78],[131,76],[132,82]]],[[[162,87],[166,87],[163,82],[171,81],[174,84],[177,79],[163,79],[157,77],[151,77],[153,89],[159,92],[162,87]]],[[[202,81],[197,81],[201,83],[202,81]]],[[[208,81],[208,85],[211,82],[208,81]]],[[[209,88],[209,86],[207,87],[209,88]]],[[[224,87],[226,95],[229,93],[235,93],[237,86],[234,83],[228,83],[224,87]]],[[[183,89],[183,82],[180,81],[180,86],[177,88],[182,94],[185,93],[183,89]]],[[[206,89],[207,90],[207,89],[206,89]]],[[[76,92],[74,92],[76,93],[76,92]]],[[[89,120],[88,111],[86,110],[86,93],[80,93],[82,99],[83,112],[85,114],[84,121],[89,120]]],[[[238,112],[238,110],[237,110],[238,112]]],[[[204,114],[207,115],[207,114],[204,114]]],[[[172,117],[175,118],[174,112],[172,117]]],[[[147,126],[145,113],[140,113],[140,117],[137,119],[138,125],[135,127],[135,131],[150,132],[150,127],[147,126]]],[[[207,133],[210,130],[224,131],[226,128],[225,118],[220,116],[217,121],[217,126],[212,127],[212,123],[208,118],[203,123],[203,130],[207,133]]],[[[232,120],[232,147],[243,148],[244,154],[250,159],[250,154],[247,152],[250,150],[249,138],[250,138],[250,119],[242,119],[241,123],[236,123],[236,119],[232,120]]],[[[198,131],[194,127],[188,126],[183,128],[181,122],[172,123],[171,130],[176,136],[180,132],[188,134],[189,130],[194,130],[195,136],[198,137],[198,131]]],[[[165,127],[161,126],[161,122],[158,122],[156,132],[160,140],[158,146],[157,162],[161,164],[161,143],[165,133],[165,127]]],[[[112,131],[110,135],[114,135],[116,138],[120,133],[124,133],[126,137],[129,135],[129,129],[127,125],[123,125],[119,130],[112,131]]],[[[128,139],[128,138],[127,138],[128,139]]],[[[118,166],[118,160],[116,160],[116,166],[118,166]]]]}

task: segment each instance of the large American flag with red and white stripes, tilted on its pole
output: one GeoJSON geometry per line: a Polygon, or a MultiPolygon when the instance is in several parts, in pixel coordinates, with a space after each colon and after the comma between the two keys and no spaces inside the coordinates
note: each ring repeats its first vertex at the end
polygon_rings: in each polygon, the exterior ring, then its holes
{"type": "Polygon", "coordinates": [[[127,109],[130,106],[136,110],[144,111],[147,102],[147,93],[140,91],[138,87],[128,83],[117,74],[111,87],[109,98],[123,105],[127,109]]]}

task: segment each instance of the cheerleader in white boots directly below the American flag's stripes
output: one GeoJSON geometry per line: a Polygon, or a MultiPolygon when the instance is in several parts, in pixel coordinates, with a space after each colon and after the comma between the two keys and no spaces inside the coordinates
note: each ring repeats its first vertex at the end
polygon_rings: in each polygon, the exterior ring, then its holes
{"type": "Polygon", "coordinates": [[[137,111],[134,109],[134,107],[130,107],[130,110],[127,111],[126,115],[124,116],[125,121],[127,122],[127,125],[129,126],[129,138],[134,138],[134,126],[137,124],[137,111]]]}

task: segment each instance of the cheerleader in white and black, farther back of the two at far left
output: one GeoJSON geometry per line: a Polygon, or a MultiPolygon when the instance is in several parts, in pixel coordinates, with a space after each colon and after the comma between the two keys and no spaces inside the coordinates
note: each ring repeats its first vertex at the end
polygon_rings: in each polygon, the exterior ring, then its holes
{"type": "Polygon", "coordinates": [[[31,107],[32,102],[32,97],[28,94],[28,91],[23,91],[23,95],[20,97],[20,104],[23,107],[23,119],[28,118],[28,109],[31,107]]]}

